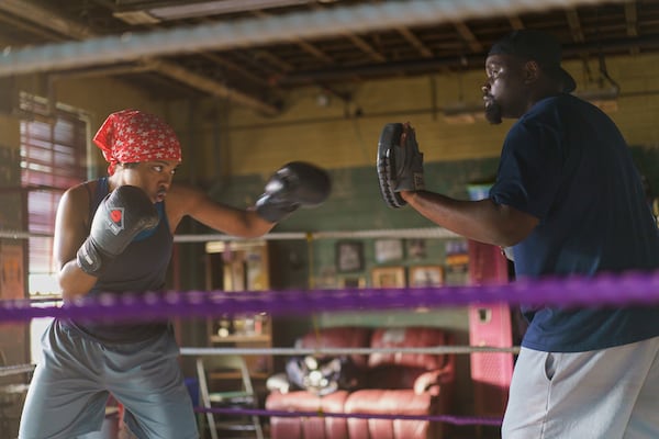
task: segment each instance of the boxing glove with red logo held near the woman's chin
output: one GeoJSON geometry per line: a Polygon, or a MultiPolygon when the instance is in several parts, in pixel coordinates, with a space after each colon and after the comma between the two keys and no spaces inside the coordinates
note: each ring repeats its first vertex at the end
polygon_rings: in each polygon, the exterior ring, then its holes
{"type": "Polygon", "coordinates": [[[116,188],[101,201],[93,215],[89,236],[78,249],[78,267],[88,274],[100,275],[135,236],[156,227],[158,221],[156,206],[142,189],[116,188]]]}

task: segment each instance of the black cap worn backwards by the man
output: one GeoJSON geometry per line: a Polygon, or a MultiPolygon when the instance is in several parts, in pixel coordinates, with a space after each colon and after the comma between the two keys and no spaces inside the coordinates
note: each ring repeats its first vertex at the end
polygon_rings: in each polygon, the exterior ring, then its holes
{"type": "Polygon", "coordinates": [[[560,44],[545,32],[529,29],[514,31],[494,43],[488,55],[500,54],[537,61],[543,71],[562,83],[566,93],[577,88],[574,78],[560,67],[560,44]]]}

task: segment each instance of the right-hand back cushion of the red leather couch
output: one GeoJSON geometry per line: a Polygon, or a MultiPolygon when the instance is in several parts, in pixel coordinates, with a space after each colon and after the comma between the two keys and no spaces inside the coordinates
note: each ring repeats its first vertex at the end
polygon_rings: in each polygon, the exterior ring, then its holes
{"type": "MultiPolygon", "coordinates": [[[[379,328],[371,335],[371,348],[423,348],[446,346],[446,334],[440,328],[434,327],[404,327],[379,328]]],[[[445,354],[435,353],[402,353],[402,352],[373,352],[368,357],[369,368],[381,365],[401,365],[423,368],[426,370],[439,369],[446,363],[445,354]]]]}

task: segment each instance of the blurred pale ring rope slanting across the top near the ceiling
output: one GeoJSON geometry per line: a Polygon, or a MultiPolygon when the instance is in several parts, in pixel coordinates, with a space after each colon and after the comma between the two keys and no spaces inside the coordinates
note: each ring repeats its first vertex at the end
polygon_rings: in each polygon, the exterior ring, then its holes
{"type": "MultiPolygon", "coordinates": [[[[616,0],[622,2],[623,0],[616,0]]],[[[421,26],[468,19],[543,11],[601,0],[411,0],[297,12],[232,22],[174,27],[141,34],[46,44],[0,54],[0,77],[168,56],[364,33],[392,26],[421,26]]]]}

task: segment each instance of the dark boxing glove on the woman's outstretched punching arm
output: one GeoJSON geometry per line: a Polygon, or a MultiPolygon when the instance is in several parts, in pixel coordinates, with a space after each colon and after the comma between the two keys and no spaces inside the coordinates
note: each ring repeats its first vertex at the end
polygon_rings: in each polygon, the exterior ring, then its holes
{"type": "Polygon", "coordinates": [[[323,169],[303,161],[291,161],[266,183],[266,191],[256,201],[256,212],[266,221],[277,223],[300,206],[321,204],[330,196],[332,183],[323,169]]]}

